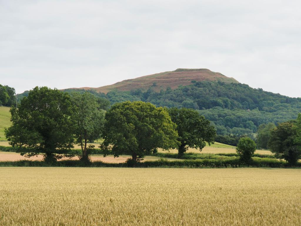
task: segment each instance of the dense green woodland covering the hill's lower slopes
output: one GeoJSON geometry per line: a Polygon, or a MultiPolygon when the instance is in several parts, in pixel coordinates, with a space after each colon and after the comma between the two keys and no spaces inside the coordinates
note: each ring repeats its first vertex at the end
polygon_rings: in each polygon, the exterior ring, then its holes
{"type": "MultiPolygon", "coordinates": [[[[157,86],[154,84],[153,86],[157,86]]],[[[68,89],[67,92],[75,90],[68,89]]],[[[77,90],[84,92],[84,90],[77,90]]],[[[301,98],[291,98],[280,94],[253,89],[246,84],[224,82],[195,82],[190,86],[170,88],[154,92],[111,91],[107,94],[96,93],[110,104],[126,100],[151,102],[162,107],[185,107],[199,111],[216,127],[217,134],[250,136],[255,138],[259,125],[278,123],[296,119],[301,111],[301,98]]]]}

